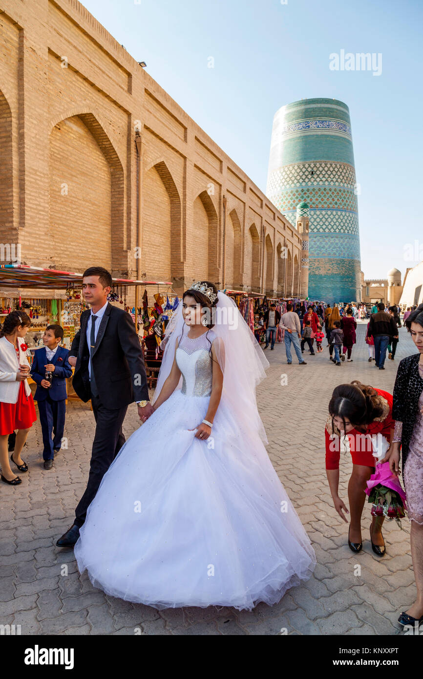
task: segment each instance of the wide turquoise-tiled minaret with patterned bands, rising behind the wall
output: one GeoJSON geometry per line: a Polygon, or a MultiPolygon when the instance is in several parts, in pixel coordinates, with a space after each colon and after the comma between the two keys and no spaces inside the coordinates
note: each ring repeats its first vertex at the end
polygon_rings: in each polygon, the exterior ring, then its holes
{"type": "Polygon", "coordinates": [[[361,299],[357,193],[348,106],[318,98],[279,109],[267,195],[296,226],[299,202],[308,205],[310,299],[361,299]]]}

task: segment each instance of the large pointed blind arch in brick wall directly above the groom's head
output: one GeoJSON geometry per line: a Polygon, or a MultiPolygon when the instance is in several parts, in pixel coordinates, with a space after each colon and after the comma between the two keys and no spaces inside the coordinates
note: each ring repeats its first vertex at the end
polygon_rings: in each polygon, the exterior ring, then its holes
{"type": "Polygon", "coordinates": [[[101,261],[128,270],[130,238],[125,229],[124,169],[109,136],[93,113],[79,113],[50,131],[50,227],[84,242],[69,252],[84,266],[101,261]],[[103,158],[103,160],[101,160],[103,158]],[[58,194],[65,186],[65,193],[58,194]],[[62,197],[67,196],[67,200],[62,197]],[[98,233],[97,233],[98,232],[98,233]]]}

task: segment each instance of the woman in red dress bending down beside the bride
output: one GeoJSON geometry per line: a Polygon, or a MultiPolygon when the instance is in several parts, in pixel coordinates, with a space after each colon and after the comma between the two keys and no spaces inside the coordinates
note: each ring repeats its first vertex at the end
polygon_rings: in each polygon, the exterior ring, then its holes
{"type": "MultiPolygon", "coordinates": [[[[363,547],[361,538],[361,515],[365,503],[366,481],[375,471],[373,452],[384,457],[393,435],[392,395],[360,382],[339,384],[329,402],[329,418],[325,427],[326,475],[331,489],[333,505],[346,523],[348,513],[339,498],[339,458],[342,450],[350,452],[352,474],[348,483],[350,501],[350,527],[348,545],[358,553],[363,547]]],[[[385,542],[382,536],[384,517],[373,517],[370,526],[371,547],[375,554],[383,556],[385,542]]]]}

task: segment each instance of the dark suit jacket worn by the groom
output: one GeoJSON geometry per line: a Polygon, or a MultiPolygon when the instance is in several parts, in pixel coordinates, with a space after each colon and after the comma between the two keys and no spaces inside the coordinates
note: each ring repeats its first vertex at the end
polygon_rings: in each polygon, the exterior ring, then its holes
{"type": "MultiPolygon", "coordinates": [[[[91,310],[82,312],[81,328],[69,352],[69,356],[77,359],[73,388],[82,401],[91,398],[90,351],[86,339],[90,315],[91,310]]],[[[105,407],[116,409],[133,401],[149,401],[143,351],[132,318],[123,309],[107,304],[92,349],[91,363],[100,401],[105,407]]]]}

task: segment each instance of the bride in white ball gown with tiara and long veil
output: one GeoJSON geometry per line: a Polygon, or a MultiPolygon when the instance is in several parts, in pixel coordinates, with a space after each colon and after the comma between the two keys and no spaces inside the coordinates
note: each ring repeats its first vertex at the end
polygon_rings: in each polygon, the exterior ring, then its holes
{"type": "Polygon", "coordinates": [[[316,558],[263,445],[255,387],[268,361],[234,301],[204,281],[164,342],[154,412],[88,508],[79,571],[159,609],[275,604],[316,558]]]}

